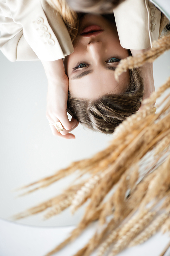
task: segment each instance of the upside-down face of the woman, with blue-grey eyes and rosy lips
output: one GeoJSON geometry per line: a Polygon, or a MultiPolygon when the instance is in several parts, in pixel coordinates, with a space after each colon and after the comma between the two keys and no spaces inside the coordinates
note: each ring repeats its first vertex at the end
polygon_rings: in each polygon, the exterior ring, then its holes
{"type": "Polygon", "coordinates": [[[87,14],[80,21],[74,52],[66,57],[69,92],[77,98],[98,98],[126,91],[129,72],[115,80],[115,68],[128,51],[121,47],[116,26],[100,15],[87,14]],[[94,32],[96,31],[96,32],[94,32]]]}

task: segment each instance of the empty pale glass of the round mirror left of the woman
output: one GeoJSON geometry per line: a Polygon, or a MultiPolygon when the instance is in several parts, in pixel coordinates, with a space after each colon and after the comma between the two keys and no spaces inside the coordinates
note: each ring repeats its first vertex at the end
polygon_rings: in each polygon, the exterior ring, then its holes
{"type": "MultiPolygon", "coordinates": [[[[47,79],[40,62],[12,63],[0,52],[1,174],[0,217],[12,215],[60,194],[75,176],[69,176],[27,196],[18,197],[14,189],[52,175],[71,162],[91,157],[108,145],[111,135],[85,129],[73,131],[75,139],[52,135],[46,118],[47,79]]],[[[23,191],[22,191],[23,192],[23,191]]],[[[43,220],[43,214],[18,220],[36,226],[77,224],[83,209],[75,215],[69,210],[43,220]]]]}

